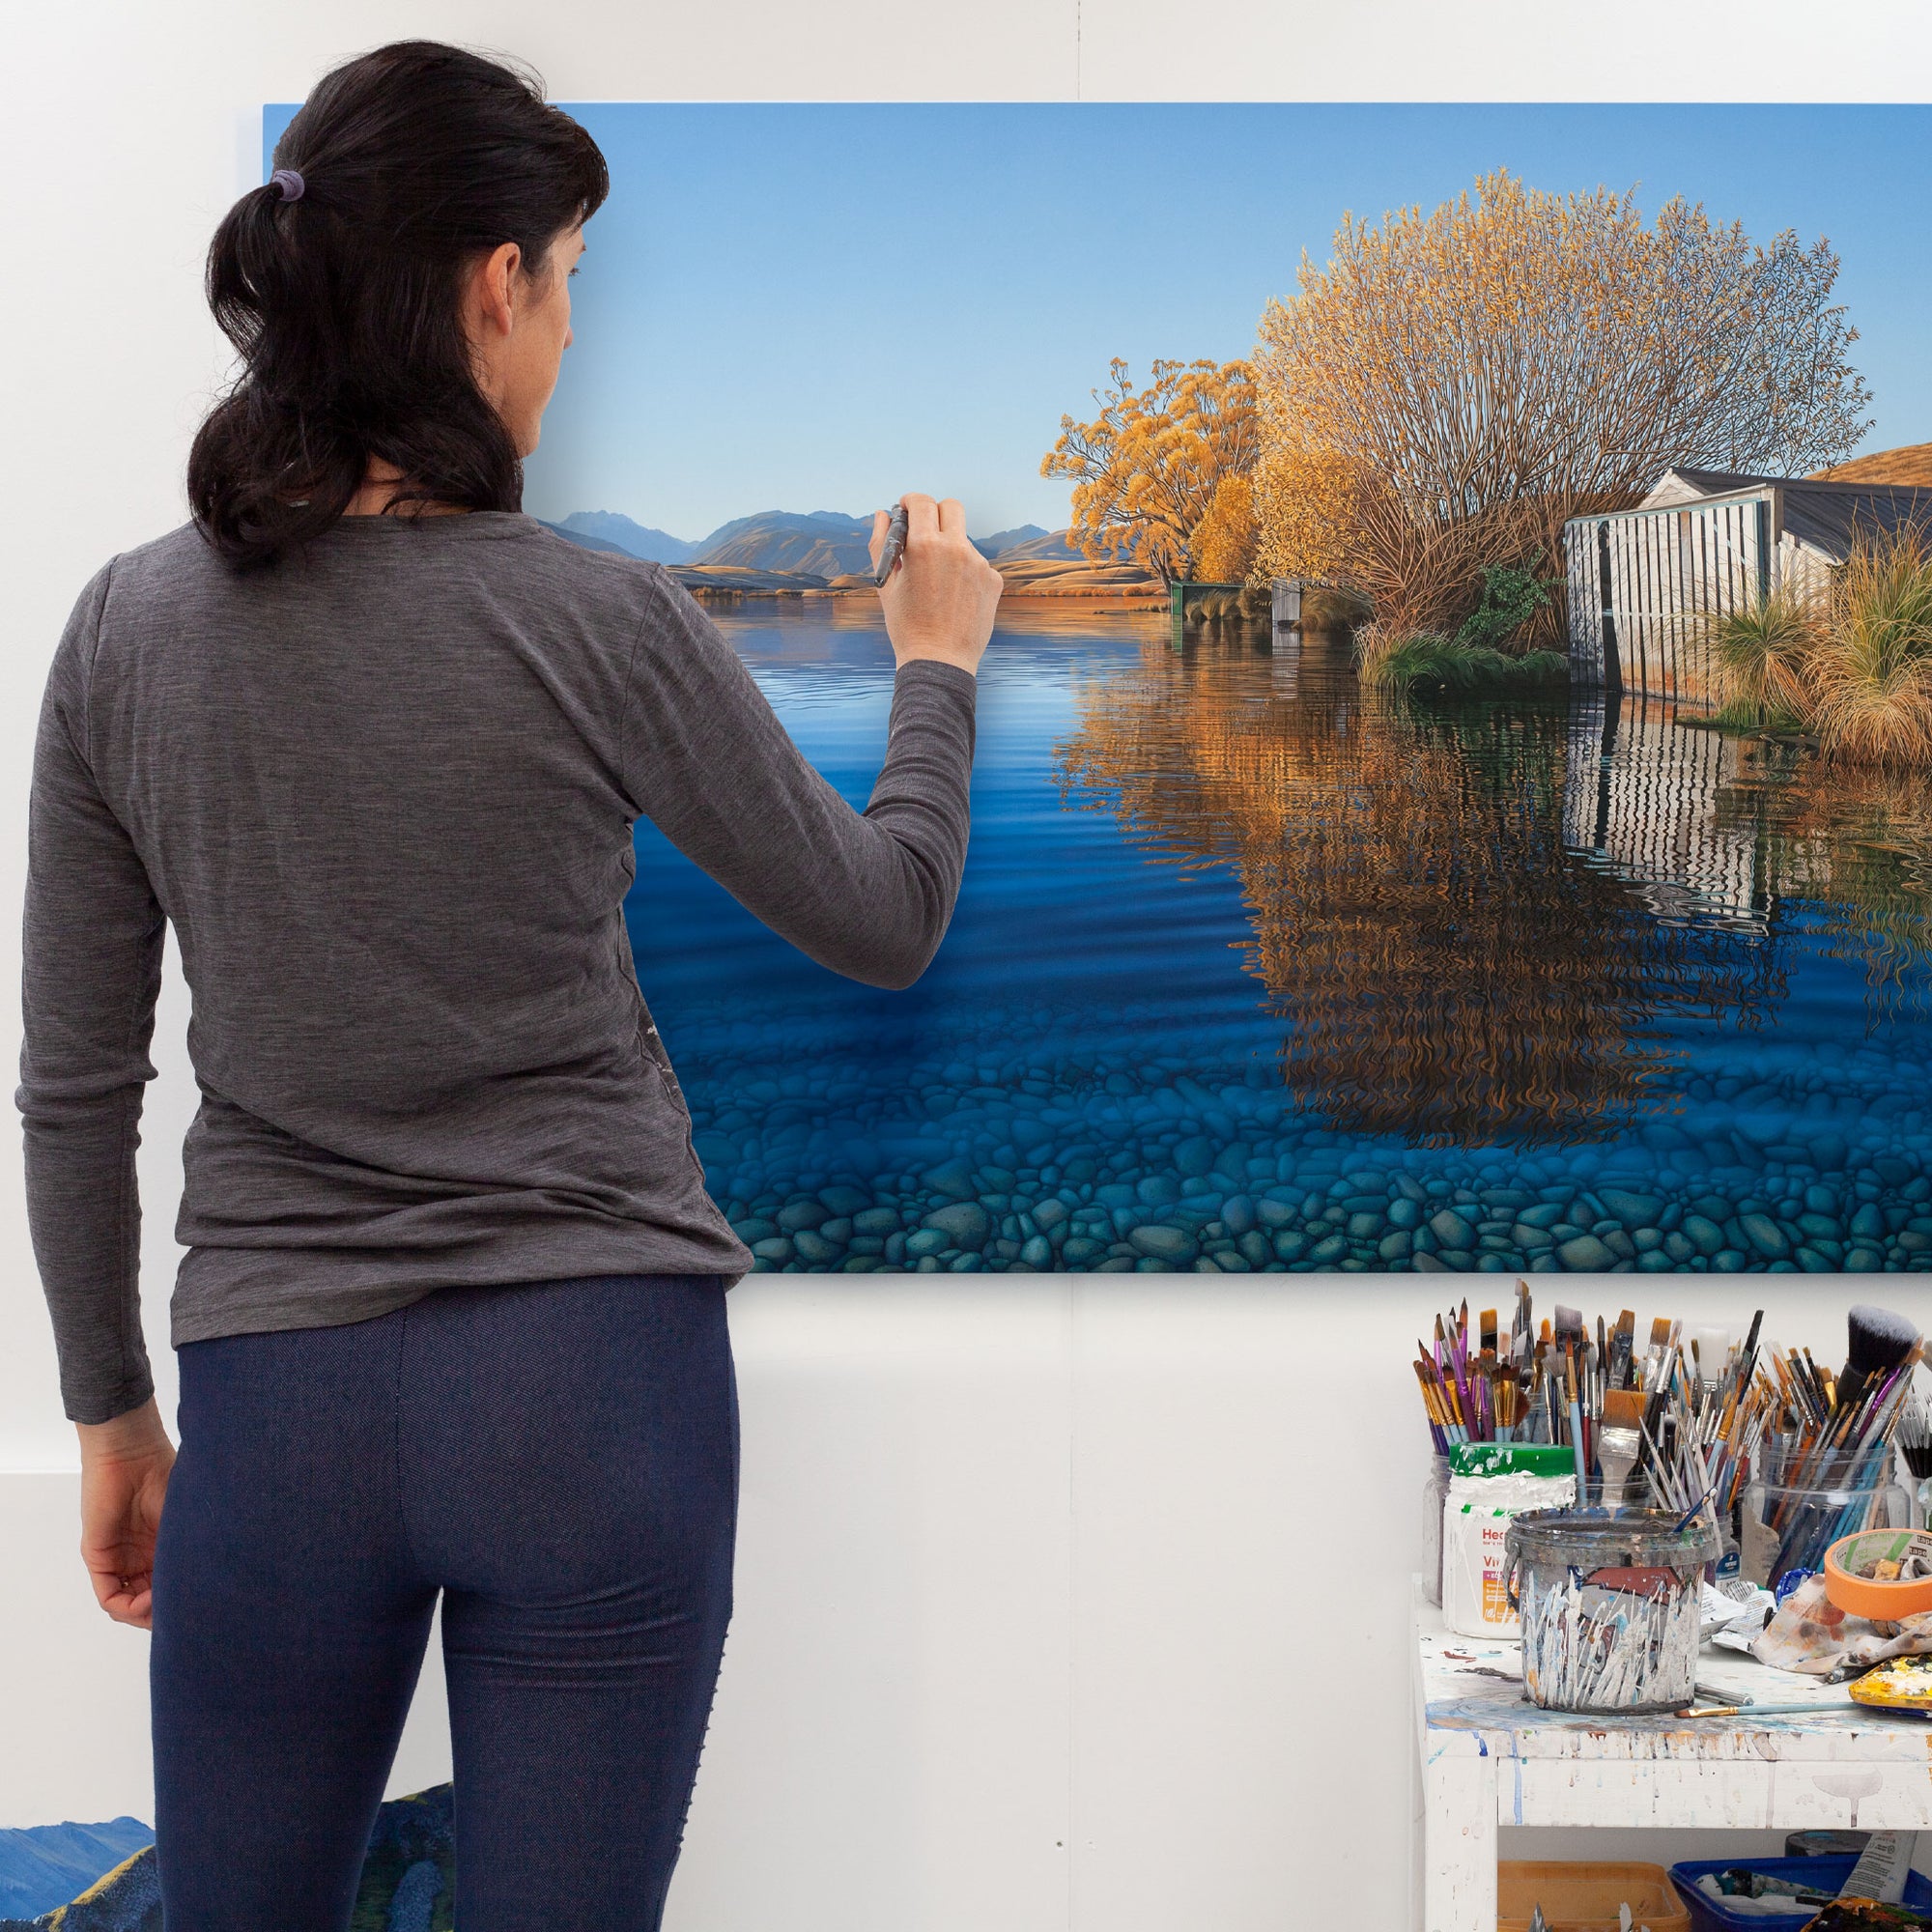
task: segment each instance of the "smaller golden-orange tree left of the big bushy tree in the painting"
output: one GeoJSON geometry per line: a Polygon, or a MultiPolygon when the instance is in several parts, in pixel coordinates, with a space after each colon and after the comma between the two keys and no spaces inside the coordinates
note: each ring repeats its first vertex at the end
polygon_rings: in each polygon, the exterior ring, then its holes
{"type": "Polygon", "coordinates": [[[1039,460],[1043,477],[1072,477],[1068,541],[1088,562],[1128,560],[1157,576],[1198,578],[1194,531],[1225,477],[1256,456],[1254,377],[1244,361],[1161,361],[1144,388],[1119,355],[1095,388],[1099,415],[1061,417],[1039,460]]]}

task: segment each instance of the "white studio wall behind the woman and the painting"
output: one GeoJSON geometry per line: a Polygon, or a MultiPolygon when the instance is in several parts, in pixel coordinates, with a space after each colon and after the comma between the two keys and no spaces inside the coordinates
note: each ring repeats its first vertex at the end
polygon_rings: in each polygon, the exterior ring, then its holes
{"type": "MultiPolygon", "coordinates": [[[[1580,14],[1424,0],[21,10],[6,52],[23,85],[0,126],[15,265],[0,980],[19,983],[54,639],[108,554],[184,516],[187,439],[224,369],[199,294],[207,236],[257,180],[261,102],[299,99],[342,54],[412,31],[502,46],[560,99],[1926,95],[1917,8],[1841,10],[1801,71],[1789,48],[1812,23],[1776,0],[1739,39],[1642,0],[1598,48],[1580,14]],[[1650,23],[1675,48],[1662,71],[1650,23]]],[[[170,954],[141,1153],[168,1414],[185,1016],[170,954]]],[[[17,1045],[10,1001],[10,1066],[17,1045]]],[[[1590,1308],[1619,1293],[1573,1289],[1590,1308]]],[[[1405,1356],[1435,1293],[1339,1275],[742,1283],[738,1615],[676,1932],[1406,1922],[1426,1437],[1405,1356]]],[[[1770,1333],[1835,1349],[1859,1285],[1679,1277],[1669,1294],[1739,1325],[1764,1306],[1770,1333]]],[[[1915,1281],[1897,1294],[1932,1325],[1915,1281]]],[[[15,1151],[0,1163],[0,1828],[151,1816],[145,1638],[93,1605],[73,1466],[15,1151]]],[[[431,1665],[390,1789],[446,1768],[431,1665]]]]}

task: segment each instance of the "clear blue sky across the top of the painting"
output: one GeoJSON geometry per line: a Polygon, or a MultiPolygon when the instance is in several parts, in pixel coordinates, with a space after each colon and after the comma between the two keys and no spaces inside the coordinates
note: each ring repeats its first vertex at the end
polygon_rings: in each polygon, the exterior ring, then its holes
{"type": "MultiPolygon", "coordinates": [[[[294,110],[265,112],[265,153],[294,110]]],[[[1061,412],[1124,355],[1242,355],[1343,211],[1493,166],[1824,234],[1874,390],[1866,448],[1932,439],[1932,108],[572,106],[611,160],[576,344],[527,466],[549,518],[699,537],[927,489],[1059,526],[1061,412]]]]}

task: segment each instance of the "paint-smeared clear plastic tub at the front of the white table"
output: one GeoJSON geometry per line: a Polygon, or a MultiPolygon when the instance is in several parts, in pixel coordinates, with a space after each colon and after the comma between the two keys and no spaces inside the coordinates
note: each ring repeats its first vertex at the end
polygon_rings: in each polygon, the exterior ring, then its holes
{"type": "Polygon", "coordinates": [[[1522,1617],[1522,1690],[1544,1710],[1638,1718],[1696,1690],[1704,1565],[1723,1538],[1706,1517],[1538,1509],[1509,1524],[1522,1617]]]}

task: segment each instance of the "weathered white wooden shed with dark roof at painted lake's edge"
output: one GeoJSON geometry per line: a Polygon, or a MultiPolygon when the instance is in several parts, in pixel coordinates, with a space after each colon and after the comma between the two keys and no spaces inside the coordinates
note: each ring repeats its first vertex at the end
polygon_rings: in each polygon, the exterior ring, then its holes
{"type": "Polygon", "coordinates": [[[1822,589],[1859,535],[1932,524],[1932,489],[1665,469],[1634,508],[1563,526],[1571,682],[1714,699],[1710,620],[1822,589]]]}

